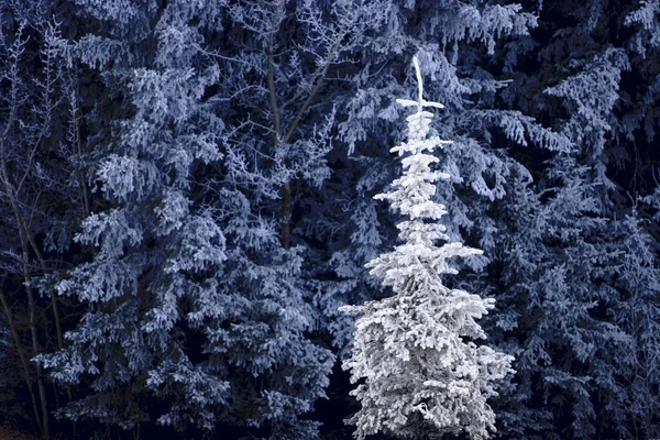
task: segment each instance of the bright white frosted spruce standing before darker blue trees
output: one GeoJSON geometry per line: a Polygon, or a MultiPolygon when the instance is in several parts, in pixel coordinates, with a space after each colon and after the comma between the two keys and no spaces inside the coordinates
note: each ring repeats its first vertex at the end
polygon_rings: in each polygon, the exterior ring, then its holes
{"type": "Polygon", "coordinates": [[[427,139],[433,117],[425,107],[442,108],[422,98],[417,58],[413,61],[419,84],[417,101],[397,100],[417,112],[407,118],[408,141],[392,148],[403,160],[404,175],[395,190],[376,196],[389,200],[407,220],[402,221],[404,242],[367,264],[371,273],[392,286],[394,295],[342,310],[359,315],[351,356],[343,363],[352,383],[364,378],[353,392],[362,408],[350,422],[355,437],[386,432],[403,438],[432,438],[465,431],[484,439],[495,430],[495,415],[486,403],[495,383],[513,373],[513,356],[479,346],[485,338],[476,320],[493,308],[494,299],[447,287],[444,274],[455,274],[448,261],[481,254],[461,243],[436,245],[449,240],[438,220],[447,213],[432,200],[435,182],[448,178],[432,172],[438,162],[432,151],[448,144],[427,139]]]}

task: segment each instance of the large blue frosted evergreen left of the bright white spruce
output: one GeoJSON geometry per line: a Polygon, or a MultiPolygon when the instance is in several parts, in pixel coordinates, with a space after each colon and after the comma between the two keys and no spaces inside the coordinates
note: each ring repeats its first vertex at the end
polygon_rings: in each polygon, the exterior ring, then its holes
{"type": "Polygon", "coordinates": [[[314,438],[317,424],[297,416],[323,396],[333,356],[306,336],[314,320],[301,251],[282,249],[277,224],[253,206],[273,198],[282,172],[244,167],[249,153],[208,96],[224,73],[206,40],[237,10],[78,3],[116,28],[119,45],[135,44],[108,58],[112,65],[102,63],[107,40],[62,50],[102,65],[130,116],[89,157],[108,205],[76,240],[96,252],[57,283],[89,311],[66,333],[65,350],[38,359],[61,383],[92,378],[91,393],[61,413],[124,429],[224,422],[314,438]],[[139,404],[154,396],[166,403],[162,414],[139,404]]]}

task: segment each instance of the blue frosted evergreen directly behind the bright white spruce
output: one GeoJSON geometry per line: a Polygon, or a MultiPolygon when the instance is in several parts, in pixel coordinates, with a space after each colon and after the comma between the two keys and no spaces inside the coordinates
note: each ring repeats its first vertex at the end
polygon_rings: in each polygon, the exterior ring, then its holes
{"type": "MultiPolygon", "coordinates": [[[[338,150],[348,154],[331,153],[337,166],[324,193],[336,196],[311,205],[314,211],[323,212],[322,221],[314,223],[328,228],[315,230],[310,224],[309,229],[330,237],[329,270],[340,278],[340,283],[323,284],[324,296],[319,299],[321,305],[329,305],[323,310],[332,326],[345,320],[342,316],[334,318],[332,307],[337,304],[358,304],[381,296],[376,280],[363,266],[383,246],[394,244],[396,228],[371,199],[397,173],[381,145],[399,142],[404,136],[397,125],[403,112],[392,97],[407,94],[408,82],[414,79],[403,68],[410,56],[418,56],[432,79],[427,87],[429,95],[449,109],[436,130],[453,140],[446,146],[440,164],[450,173],[453,185],[439,186],[435,199],[448,206],[447,233],[451,240],[460,241],[459,229],[465,228],[481,238],[487,255],[496,251],[491,215],[485,211],[508,191],[508,176],[520,165],[502,154],[494,135],[503,132],[514,143],[569,148],[565,136],[543,129],[531,118],[517,111],[495,111],[493,97],[508,82],[496,80],[479,61],[480,51],[487,52],[498,36],[527,35],[536,25],[534,14],[516,4],[481,1],[442,2],[441,7],[426,2],[387,4],[382,10],[388,13],[388,26],[356,51],[355,57],[364,61],[364,67],[353,76],[353,89],[337,97],[336,119],[342,142],[338,150]],[[437,44],[439,41],[446,44],[437,44]]],[[[465,263],[482,270],[488,258],[475,255],[465,263]]],[[[345,346],[342,338],[336,343],[345,346]]]]}

